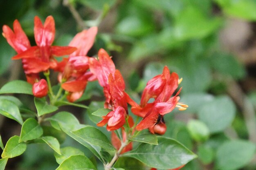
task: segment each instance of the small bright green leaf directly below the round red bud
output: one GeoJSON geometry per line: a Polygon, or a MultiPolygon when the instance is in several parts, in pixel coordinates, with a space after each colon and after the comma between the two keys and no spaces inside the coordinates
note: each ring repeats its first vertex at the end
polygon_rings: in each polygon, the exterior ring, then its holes
{"type": "Polygon", "coordinates": [[[35,97],[34,102],[36,105],[36,110],[37,110],[38,116],[42,116],[47,113],[52,113],[52,112],[58,110],[58,107],[48,104],[46,102],[45,97],[43,97],[43,98],[35,97]]]}

